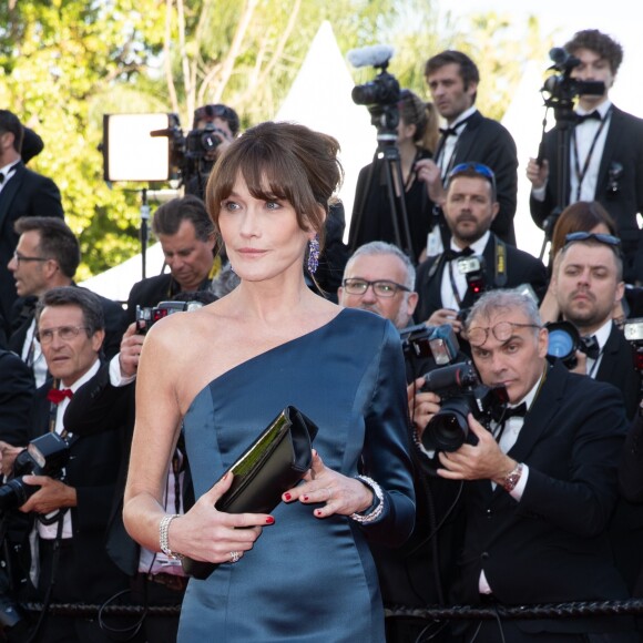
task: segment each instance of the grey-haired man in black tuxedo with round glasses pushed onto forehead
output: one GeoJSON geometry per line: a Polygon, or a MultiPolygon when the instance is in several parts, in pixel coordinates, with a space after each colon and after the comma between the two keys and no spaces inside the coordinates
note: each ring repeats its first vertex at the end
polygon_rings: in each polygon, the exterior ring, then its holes
{"type": "MultiPolygon", "coordinates": [[[[470,415],[473,439],[439,453],[440,476],[468,481],[455,600],[625,599],[606,532],[627,430],[619,391],[562,364],[550,367],[537,304],[517,290],[486,293],[471,309],[467,335],[482,382],[504,385],[509,408],[489,430],[470,415]]],[[[606,618],[491,620],[470,630],[478,627],[477,643],[571,643],[592,634],[603,642],[639,640],[630,621],[606,618]]]]}

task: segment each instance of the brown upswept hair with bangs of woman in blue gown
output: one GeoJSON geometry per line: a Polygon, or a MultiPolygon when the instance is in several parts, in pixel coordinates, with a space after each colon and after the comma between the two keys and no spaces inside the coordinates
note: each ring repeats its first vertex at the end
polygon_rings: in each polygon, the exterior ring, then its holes
{"type": "Polygon", "coordinates": [[[243,176],[254,198],[287,201],[304,231],[314,229],[324,245],[328,203],[344,172],[339,143],[295,123],[265,122],[236,139],[216,162],[205,190],[210,216],[218,231],[221,205],[243,176]]]}

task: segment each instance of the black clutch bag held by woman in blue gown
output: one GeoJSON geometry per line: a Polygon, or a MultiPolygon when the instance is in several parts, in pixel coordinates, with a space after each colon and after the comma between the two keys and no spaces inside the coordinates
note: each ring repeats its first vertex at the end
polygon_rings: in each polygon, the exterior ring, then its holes
{"type": "MultiPolygon", "coordinates": [[[[227,513],[269,513],[313,462],[310,443],[317,426],[295,407],[286,407],[228,469],[231,488],[215,507],[227,513]]],[[[217,563],[184,557],[183,571],[204,580],[217,563]]]]}

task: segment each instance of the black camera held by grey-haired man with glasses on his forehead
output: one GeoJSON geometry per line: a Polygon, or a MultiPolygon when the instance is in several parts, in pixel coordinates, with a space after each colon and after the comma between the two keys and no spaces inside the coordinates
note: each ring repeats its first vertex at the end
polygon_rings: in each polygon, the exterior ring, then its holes
{"type": "Polygon", "coordinates": [[[422,391],[440,396],[440,410],[429,420],[422,445],[427,450],[456,451],[469,437],[467,417],[489,428],[501,417],[509,396],[504,385],[483,385],[470,361],[437,368],[425,376],[422,391]]]}

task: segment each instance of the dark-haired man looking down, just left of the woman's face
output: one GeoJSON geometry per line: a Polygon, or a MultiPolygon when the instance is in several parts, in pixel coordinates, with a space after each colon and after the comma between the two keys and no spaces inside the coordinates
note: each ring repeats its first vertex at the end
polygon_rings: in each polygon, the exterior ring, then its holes
{"type": "Polygon", "coordinates": [[[215,253],[214,225],[197,196],[188,194],[159,206],[152,231],[170,273],[134,284],[127,297],[127,324],[136,319],[136,306],[156,306],[178,293],[208,289],[223,266],[222,256],[215,253]]]}

